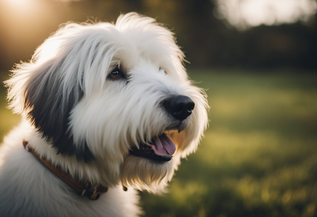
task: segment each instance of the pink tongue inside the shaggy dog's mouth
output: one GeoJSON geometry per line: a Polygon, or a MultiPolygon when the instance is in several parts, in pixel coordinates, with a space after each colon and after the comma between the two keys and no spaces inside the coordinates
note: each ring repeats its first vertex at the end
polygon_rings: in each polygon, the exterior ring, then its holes
{"type": "Polygon", "coordinates": [[[166,156],[174,154],[176,145],[168,136],[164,133],[158,137],[155,137],[154,144],[151,145],[151,149],[156,155],[166,156]]]}

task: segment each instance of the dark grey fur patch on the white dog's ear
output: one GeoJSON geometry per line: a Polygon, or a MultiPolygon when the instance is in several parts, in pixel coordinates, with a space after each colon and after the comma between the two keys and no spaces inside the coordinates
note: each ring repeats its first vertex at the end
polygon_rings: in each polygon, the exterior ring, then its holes
{"type": "Polygon", "coordinates": [[[52,142],[58,154],[75,154],[79,161],[89,162],[94,156],[87,144],[76,147],[68,129],[70,112],[83,96],[83,90],[76,82],[76,73],[68,91],[64,90],[63,62],[64,59],[57,63],[51,60],[29,78],[24,108],[29,111],[27,118],[46,141],[52,142]]]}

